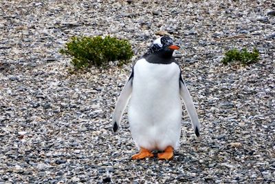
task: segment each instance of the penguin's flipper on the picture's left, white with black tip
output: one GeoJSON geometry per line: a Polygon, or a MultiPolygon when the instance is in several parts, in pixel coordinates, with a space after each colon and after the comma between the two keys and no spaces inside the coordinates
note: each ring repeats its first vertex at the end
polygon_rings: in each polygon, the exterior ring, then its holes
{"type": "Polygon", "coordinates": [[[115,105],[115,110],[113,112],[113,132],[116,132],[120,126],[120,121],[122,119],[122,114],[126,108],[126,105],[131,97],[132,90],[133,90],[133,72],[129,78],[129,80],[124,85],[120,96],[118,97],[118,101],[115,105]]]}

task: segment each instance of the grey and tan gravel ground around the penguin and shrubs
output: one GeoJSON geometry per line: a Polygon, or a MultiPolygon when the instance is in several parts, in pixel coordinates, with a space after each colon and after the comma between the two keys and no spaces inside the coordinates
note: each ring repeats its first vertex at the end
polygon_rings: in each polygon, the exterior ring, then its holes
{"type": "Polygon", "coordinates": [[[0,183],[275,183],[272,1],[0,2],[0,183]],[[159,32],[162,31],[162,32],[159,32]],[[131,161],[126,122],[111,114],[135,59],[168,32],[201,121],[183,112],[172,161],[131,161]],[[69,72],[58,53],[74,35],[129,39],[122,68],[69,72]],[[225,50],[259,48],[250,66],[225,50]]]}

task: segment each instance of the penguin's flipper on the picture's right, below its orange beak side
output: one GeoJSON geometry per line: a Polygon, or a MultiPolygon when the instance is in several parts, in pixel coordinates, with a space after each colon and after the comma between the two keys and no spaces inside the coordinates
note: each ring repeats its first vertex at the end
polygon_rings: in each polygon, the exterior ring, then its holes
{"type": "Polygon", "coordinates": [[[184,101],[184,105],[186,106],[186,110],[194,127],[195,134],[196,136],[199,136],[200,124],[197,111],[192,101],[192,97],[190,96],[190,93],[184,83],[184,80],[181,78],[181,75],[179,76],[179,94],[181,99],[184,101]]]}

